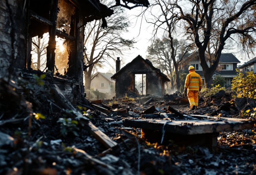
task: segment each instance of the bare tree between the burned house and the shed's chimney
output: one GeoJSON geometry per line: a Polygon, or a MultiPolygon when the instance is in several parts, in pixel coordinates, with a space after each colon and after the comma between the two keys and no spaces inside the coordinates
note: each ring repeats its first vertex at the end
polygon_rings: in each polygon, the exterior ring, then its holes
{"type": "MultiPolygon", "coordinates": [[[[103,1],[107,6],[114,2],[103,1]]],[[[84,62],[87,64],[84,69],[85,89],[90,89],[92,73],[95,66],[101,66],[102,62],[109,63],[115,59],[115,55],[122,55],[122,51],[131,48],[133,39],[124,39],[122,34],[128,32],[130,23],[128,17],[121,7],[114,7],[115,15],[106,18],[108,27],[102,27],[102,21],[93,21],[87,24],[85,29],[86,47],[84,51],[84,62]]],[[[109,64],[111,65],[111,64],[109,64]]]]}

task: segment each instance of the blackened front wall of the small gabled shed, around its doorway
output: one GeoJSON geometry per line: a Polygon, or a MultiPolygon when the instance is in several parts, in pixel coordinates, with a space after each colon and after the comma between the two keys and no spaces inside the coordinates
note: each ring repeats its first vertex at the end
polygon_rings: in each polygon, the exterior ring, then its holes
{"type": "Polygon", "coordinates": [[[143,59],[134,59],[132,64],[126,65],[119,74],[116,75],[116,98],[123,97],[125,93],[133,93],[134,74],[146,74],[146,94],[157,96],[164,95],[164,81],[159,73],[154,70],[143,59]]]}

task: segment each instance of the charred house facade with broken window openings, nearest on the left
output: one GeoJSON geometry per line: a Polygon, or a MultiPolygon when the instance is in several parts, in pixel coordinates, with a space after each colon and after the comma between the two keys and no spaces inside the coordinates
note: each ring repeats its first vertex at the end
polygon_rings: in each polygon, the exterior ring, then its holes
{"type": "MultiPolygon", "coordinates": [[[[148,1],[128,3],[148,6],[148,1]]],[[[57,84],[68,98],[72,97],[71,101],[82,97],[85,25],[102,20],[105,28],[105,17],[114,11],[99,0],[3,0],[0,8],[0,78],[29,79],[32,74],[46,74],[51,83],[57,84]],[[45,60],[39,56],[43,66],[36,69],[32,51],[40,47],[40,42],[35,43],[33,38],[38,41],[45,36],[45,60]],[[57,45],[65,45],[65,61],[56,52],[57,45]]]]}

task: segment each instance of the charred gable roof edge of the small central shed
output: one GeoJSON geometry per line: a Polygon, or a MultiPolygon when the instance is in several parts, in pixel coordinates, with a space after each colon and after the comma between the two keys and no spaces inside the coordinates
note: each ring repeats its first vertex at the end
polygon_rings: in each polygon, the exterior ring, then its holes
{"type": "Polygon", "coordinates": [[[140,59],[142,61],[144,61],[146,64],[148,64],[153,70],[155,70],[160,76],[162,76],[165,80],[165,82],[167,81],[171,81],[164,73],[161,72],[160,69],[156,68],[153,66],[153,64],[151,63],[151,61],[149,61],[148,59],[144,59],[142,58],[140,55],[138,55],[136,58],[134,58],[130,63],[126,64],[122,69],[120,69],[118,72],[116,72],[112,77],[111,79],[115,79],[116,76],[118,74],[120,74],[121,72],[123,72],[129,65],[132,65],[132,64],[136,64],[136,61],[140,59]]]}

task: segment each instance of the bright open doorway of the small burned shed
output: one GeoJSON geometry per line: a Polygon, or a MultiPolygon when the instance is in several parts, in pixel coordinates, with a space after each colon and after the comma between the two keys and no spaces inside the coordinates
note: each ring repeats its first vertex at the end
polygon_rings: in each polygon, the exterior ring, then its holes
{"type": "Polygon", "coordinates": [[[139,95],[147,94],[147,74],[134,74],[133,92],[139,95]]]}

